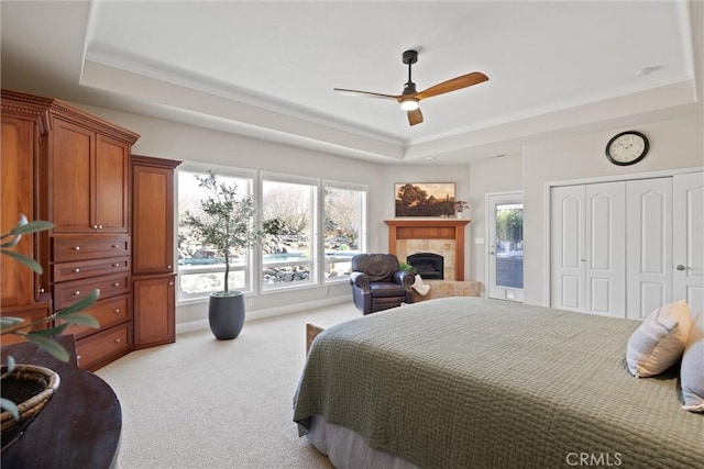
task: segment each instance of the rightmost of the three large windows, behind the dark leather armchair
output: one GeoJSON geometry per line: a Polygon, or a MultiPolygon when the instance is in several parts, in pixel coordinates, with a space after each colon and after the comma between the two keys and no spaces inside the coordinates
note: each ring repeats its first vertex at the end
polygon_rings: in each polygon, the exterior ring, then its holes
{"type": "Polygon", "coordinates": [[[326,181],[322,191],[324,282],[344,281],[352,256],[366,250],[366,188],[326,181]]]}

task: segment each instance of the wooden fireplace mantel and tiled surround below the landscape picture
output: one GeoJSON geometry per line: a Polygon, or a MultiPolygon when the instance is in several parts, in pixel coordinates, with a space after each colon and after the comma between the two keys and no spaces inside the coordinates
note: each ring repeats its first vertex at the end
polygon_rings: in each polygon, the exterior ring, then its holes
{"type": "Polygon", "coordinates": [[[464,280],[464,227],[470,220],[386,220],[388,252],[399,261],[417,253],[444,257],[446,280],[464,280]]]}

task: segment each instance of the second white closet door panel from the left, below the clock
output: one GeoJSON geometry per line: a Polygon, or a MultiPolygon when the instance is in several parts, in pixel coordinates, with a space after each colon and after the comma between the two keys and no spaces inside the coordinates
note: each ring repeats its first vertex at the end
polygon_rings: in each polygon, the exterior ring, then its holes
{"type": "Polygon", "coordinates": [[[585,308],[626,317],[626,185],[586,186],[585,308]]]}

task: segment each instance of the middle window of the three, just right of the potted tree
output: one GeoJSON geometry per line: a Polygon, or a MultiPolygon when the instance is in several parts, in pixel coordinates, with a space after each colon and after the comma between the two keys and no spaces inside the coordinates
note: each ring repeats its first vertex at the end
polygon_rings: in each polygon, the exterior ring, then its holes
{"type": "Polygon", "coordinates": [[[316,283],[317,192],[317,180],[263,176],[263,291],[316,283]]]}

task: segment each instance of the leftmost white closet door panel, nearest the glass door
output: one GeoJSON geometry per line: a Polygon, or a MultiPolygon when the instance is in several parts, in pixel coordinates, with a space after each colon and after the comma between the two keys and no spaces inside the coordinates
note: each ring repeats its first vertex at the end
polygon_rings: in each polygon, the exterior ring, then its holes
{"type": "Polygon", "coordinates": [[[550,305],[584,311],[584,186],[550,193],[550,305]]]}

